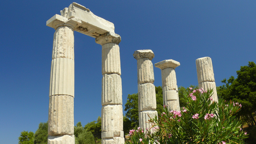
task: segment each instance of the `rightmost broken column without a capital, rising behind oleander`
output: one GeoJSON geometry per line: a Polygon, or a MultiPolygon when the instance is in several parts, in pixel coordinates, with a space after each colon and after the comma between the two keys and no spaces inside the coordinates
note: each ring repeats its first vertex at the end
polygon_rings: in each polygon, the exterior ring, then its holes
{"type": "Polygon", "coordinates": [[[212,67],[212,59],[210,57],[196,59],[196,71],[198,88],[203,88],[204,90],[213,89],[214,93],[212,95],[212,98],[215,102],[218,102],[216,84],[212,67]]]}

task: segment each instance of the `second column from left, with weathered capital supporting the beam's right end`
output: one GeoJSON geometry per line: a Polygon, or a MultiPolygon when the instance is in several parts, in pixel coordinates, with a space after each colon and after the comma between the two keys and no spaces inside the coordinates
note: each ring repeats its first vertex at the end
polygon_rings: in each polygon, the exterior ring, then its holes
{"type": "Polygon", "coordinates": [[[122,80],[120,52],[121,37],[107,32],[95,39],[102,45],[101,142],[124,144],[122,80]]]}

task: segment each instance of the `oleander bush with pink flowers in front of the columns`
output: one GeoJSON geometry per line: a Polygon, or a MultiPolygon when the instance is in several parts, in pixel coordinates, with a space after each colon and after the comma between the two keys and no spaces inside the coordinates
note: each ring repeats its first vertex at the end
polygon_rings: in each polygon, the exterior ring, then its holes
{"type": "MultiPolygon", "coordinates": [[[[181,111],[164,112],[149,122],[152,123],[148,134],[150,142],[156,144],[243,144],[242,139],[248,138],[241,129],[241,122],[234,116],[241,105],[224,100],[219,104],[212,101],[212,90],[191,90],[184,94],[185,105],[181,111]]],[[[140,133],[134,131],[133,141],[139,142],[140,133]]],[[[143,144],[149,144],[143,141],[143,144]]],[[[128,143],[128,142],[126,142],[128,143]]],[[[130,143],[129,143],[130,144],[130,143]]]]}

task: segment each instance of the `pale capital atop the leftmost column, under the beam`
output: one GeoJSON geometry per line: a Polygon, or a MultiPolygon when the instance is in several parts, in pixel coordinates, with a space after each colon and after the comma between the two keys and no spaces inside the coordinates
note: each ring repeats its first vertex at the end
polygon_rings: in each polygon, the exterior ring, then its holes
{"type": "Polygon", "coordinates": [[[75,28],[81,25],[81,20],[79,18],[67,19],[60,15],[54,15],[46,22],[46,25],[54,28],[55,30],[60,26],[69,26],[73,30],[75,30],[75,28]]]}

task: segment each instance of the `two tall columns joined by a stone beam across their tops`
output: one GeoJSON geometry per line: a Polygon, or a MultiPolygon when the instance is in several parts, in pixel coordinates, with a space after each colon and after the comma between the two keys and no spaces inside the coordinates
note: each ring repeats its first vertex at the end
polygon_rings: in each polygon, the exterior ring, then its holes
{"type": "Polygon", "coordinates": [[[124,144],[122,80],[119,42],[114,24],[88,8],[71,3],[46,25],[53,38],[50,75],[48,144],[75,144],[74,31],[96,38],[102,45],[102,144],[124,144]]]}

